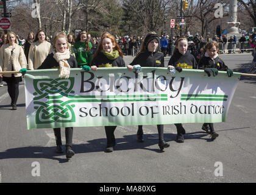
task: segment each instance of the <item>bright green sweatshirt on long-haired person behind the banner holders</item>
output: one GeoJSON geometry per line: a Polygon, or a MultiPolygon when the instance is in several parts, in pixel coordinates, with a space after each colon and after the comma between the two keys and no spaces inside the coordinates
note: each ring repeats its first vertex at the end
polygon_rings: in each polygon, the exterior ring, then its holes
{"type": "MultiPolygon", "coordinates": [[[[92,48],[89,42],[89,47],[92,48]]],[[[93,49],[90,52],[85,52],[85,43],[78,41],[74,44],[74,52],[76,54],[76,61],[79,66],[81,65],[91,65],[91,56],[93,55],[93,49]]]]}

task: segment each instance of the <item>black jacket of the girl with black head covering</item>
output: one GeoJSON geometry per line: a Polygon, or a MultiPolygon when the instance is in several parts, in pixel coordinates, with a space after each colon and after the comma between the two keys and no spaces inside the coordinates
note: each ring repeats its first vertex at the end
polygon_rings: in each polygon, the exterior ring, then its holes
{"type": "Polygon", "coordinates": [[[162,52],[140,52],[133,59],[130,65],[140,65],[141,67],[164,67],[165,61],[162,52]]]}

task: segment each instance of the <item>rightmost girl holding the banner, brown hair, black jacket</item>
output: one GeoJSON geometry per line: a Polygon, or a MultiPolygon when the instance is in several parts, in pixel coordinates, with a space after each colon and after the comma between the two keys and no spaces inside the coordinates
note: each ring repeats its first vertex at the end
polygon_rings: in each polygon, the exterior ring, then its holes
{"type": "MultiPolygon", "coordinates": [[[[218,52],[219,44],[216,41],[208,42],[204,48],[204,56],[199,61],[199,69],[204,69],[205,73],[207,73],[209,77],[212,74],[213,76],[216,76],[218,71],[227,71],[227,75],[231,77],[233,75],[233,71],[229,69],[223,60],[218,57],[218,52]]],[[[210,133],[212,140],[215,140],[219,136],[218,133],[215,132],[213,123],[204,123],[202,130],[210,133]]]]}

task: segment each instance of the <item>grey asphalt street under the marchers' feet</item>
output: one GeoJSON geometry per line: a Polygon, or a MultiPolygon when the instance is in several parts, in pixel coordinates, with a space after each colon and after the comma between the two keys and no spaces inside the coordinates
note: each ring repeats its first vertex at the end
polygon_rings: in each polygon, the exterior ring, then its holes
{"type": "MultiPolygon", "coordinates": [[[[237,71],[252,61],[251,54],[220,57],[237,71]]],[[[129,64],[133,57],[124,59],[129,64]]],[[[52,129],[27,130],[24,82],[15,111],[5,85],[0,88],[0,182],[256,182],[255,103],[256,78],[242,78],[227,121],[215,124],[215,141],[202,124],[184,124],[185,143],[177,143],[176,127],[165,125],[170,144],[165,152],[158,147],[156,126],[144,126],[144,143],[136,141],[137,126],[118,126],[112,153],[104,152],[104,127],[76,127],[76,154],[66,161],[65,154],[54,152],[52,129]],[[221,166],[222,176],[215,176],[221,166]],[[37,174],[34,168],[40,168],[37,174]]],[[[62,139],[65,145],[63,130],[62,139]]]]}

